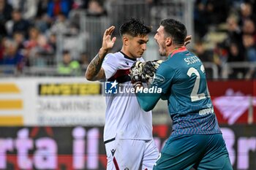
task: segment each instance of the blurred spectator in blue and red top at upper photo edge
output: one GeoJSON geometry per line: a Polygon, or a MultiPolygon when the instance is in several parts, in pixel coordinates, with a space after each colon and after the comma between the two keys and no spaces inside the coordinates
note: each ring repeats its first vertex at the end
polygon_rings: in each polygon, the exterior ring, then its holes
{"type": "Polygon", "coordinates": [[[57,15],[60,13],[64,14],[67,18],[69,15],[70,10],[70,1],[68,0],[50,0],[48,2],[48,9],[47,13],[53,20],[56,18],[57,15]]]}

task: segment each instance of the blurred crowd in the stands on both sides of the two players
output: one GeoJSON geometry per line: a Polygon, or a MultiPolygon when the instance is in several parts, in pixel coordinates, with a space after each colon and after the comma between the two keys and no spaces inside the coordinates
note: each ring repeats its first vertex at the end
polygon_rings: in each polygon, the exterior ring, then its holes
{"type": "MultiPolygon", "coordinates": [[[[0,0],[0,68],[14,66],[22,72],[25,67],[55,66],[59,74],[80,75],[91,54],[81,50],[74,56],[70,51],[74,42],[70,42],[69,49],[58,52],[58,34],[80,33],[79,15],[74,11],[85,11],[88,17],[109,17],[108,1],[118,0],[0,0]],[[56,60],[57,53],[61,60],[56,60]]],[[[160,3],[145,1],[150,7],[160,3]]],[[[194,3],[194,52],[203,62],[214,63],[219,77],[225,74],[233,79],[255,78],[254,66],[225,66],[256,61],[256,0],[194,3]]],[[[4,71],[0,69],[1,72],[4,71]]],[[[211,78],[212,70],[209,72],[211,78]]]]}

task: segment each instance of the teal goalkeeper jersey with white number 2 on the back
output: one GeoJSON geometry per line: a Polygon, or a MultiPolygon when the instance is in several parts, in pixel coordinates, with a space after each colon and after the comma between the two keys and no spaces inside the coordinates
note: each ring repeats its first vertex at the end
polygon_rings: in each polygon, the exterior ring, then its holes
{"type": "Polygon", "coordinates": [[[159,98],[167,100],[173,135],[221,133],[203,63],[186,47],[175,50],[159,65],[151,86],[162,88],[162,93],[137,93],[140,107],[151,110],[159,98]]]}

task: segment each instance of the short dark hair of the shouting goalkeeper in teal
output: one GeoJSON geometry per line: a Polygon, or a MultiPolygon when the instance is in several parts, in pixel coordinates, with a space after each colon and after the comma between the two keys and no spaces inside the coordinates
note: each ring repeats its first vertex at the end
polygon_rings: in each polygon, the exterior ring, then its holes
{"type": "Polygon", "coordinates": [[[173,43],[176,45],[184,45],[187,37],[187,28],[178,20],[165,19],[162,20],[160,26],[165,28],[165,36],[172,36],[173,43]]]}

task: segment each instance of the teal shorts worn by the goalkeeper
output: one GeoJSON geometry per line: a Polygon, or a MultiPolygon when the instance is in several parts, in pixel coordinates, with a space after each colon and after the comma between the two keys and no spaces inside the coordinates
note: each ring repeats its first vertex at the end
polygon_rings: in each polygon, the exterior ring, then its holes
{"type": "Polygon", "coordinates": [[[233,169],[222,134],[170,136],[154,170],[233,169]]]}

